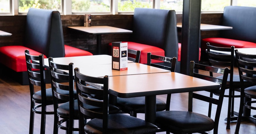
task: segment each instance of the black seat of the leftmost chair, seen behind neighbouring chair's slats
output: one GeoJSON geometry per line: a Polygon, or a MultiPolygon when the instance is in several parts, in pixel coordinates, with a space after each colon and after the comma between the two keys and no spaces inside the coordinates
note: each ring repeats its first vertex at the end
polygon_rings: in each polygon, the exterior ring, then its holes
{"type": "MultiPolygon", "coordinates": [[[[60,90],[60,89],[57,89],[60,93],[63,93],[63,94],[66,94],[68,95],[69,94],[69,91],[66,91],[66,90],[60,90]]],[[[46,91],[46,104],[47,105],[51,105],[53,104],[53,99],[52,99],[52,88],[48,88],[45,90],[46,91]]],[[[74,93],[76,94],[76,91],[74,91],[74,93]]],[[[76,95],[75,95],[76,96],[76,95]]],[[[37,102],[41,102],[42,101],[42,96],[41,96],[41,91],[37,91],[35,94],[33,94],[33,98],[32,98],[36,103],[37,102]]],[[[60,100],[60,103],[63,103],[63,102],[67,102],[67,101],[64,101],[64,100],[60,100]]]]}

